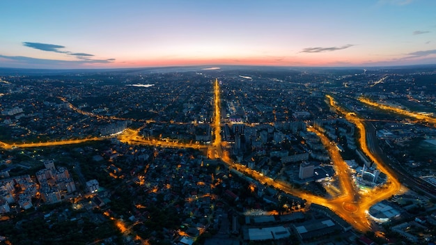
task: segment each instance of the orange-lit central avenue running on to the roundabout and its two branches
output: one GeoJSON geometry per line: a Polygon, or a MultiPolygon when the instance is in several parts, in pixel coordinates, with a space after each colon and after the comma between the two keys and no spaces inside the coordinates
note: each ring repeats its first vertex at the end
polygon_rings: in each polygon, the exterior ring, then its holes
{"type": "MultiPolygon", "coordinates": [[[[219,86],[217,81],[215,81],[215,142],[213,145],[215,148],[222,149],[221,142],[217,141],[217,139],[221,139],[221,136],[217,136],[220,134],[218,121],[220,118],[217,118],[219,115],[219,86]]],[[[390,196],[398,193],[400,191],[400,183],[391,171],[384,167],[384,163],[373,153],[368,150],[368,146],[366,144],[366,129],[364,124],[361,122],[361,118],[358,118],[355,113],[348,113],[341,107],[336,105],[333,98],[327,95],[327,98],[330,100],[330,104],[336,108],[339,113],[342,113],[346,116],[346,119],[350,122],[355,123],[357,129],[359,129],[360,137],[359,143],[361,144],[361,150],[368,155],[371,161],[374,161],[377,164],[380,171],[387,174],[389,184],[385,184],[382,189],[374,189],[372,191],[368,191],[367,193],[359,193],[358,190],[352,184],[352,177],[348,171],[348,166],[343,161],[341,155],[338,152],[338,149],[334,147],[333,143],[330,142],[327,137],[317,132],[315,129],[309,128],[309,131],[316,132],[316,134],[320,137],[323,145],[326,146],[332,161],[334,162],[334,166],[336,169],[336,174],[338,175],[339,182],[341,183],[341,195],[336,198],[322,198],[320,196],[315,196],[311,193],[307,193],[305,191],[293,189],[289,183],[281,182],[278,180],[273,180],[270,177],[266,177],[257,171],[253,171],[247,166],[243,166],[242,164],[238,164],[228,157],[228,152],[217,150],[219,154],[219,158],[228,164],[229,167],[234,168],[235,170],[241,173],[247,173],[254,177],[261,183],[272,185],[277,189],[281,189],[286,193],[290,193],[293,196],[298,196],[299,198],[306,199],[309,203],[316,203],[318,205],[322,205],[325,207],[329,207],[329,209],[333,210],[338,216],[341,216],[342,219],[350,223],[355,229],[360,230],[361,232],[365,232],[367,230],[371,230],[371,223],[368,221],[367,212],[369,208],[375,203],[380,202],[381,200],[387,199],[390,196]]]]}

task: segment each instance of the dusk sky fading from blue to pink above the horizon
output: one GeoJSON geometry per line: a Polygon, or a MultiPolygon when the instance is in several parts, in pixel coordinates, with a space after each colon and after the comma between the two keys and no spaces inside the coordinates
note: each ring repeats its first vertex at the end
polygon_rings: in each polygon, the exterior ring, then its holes
{"type": "Polygon", "coordinates": [[[0,1],[0,67],[436,64],[435,0],[0,1]]]}

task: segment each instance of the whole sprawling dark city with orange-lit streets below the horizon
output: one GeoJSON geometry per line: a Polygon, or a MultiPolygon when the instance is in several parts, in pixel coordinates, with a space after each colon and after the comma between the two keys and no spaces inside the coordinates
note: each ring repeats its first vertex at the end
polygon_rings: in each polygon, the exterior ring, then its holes
{"type": "Polygon", "coordinates": [[[0,74],[1,243],[435,242],[435,65],[0,74]]]}

